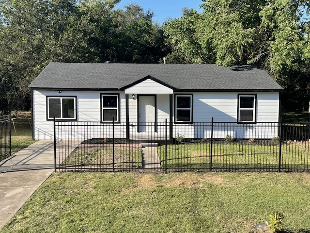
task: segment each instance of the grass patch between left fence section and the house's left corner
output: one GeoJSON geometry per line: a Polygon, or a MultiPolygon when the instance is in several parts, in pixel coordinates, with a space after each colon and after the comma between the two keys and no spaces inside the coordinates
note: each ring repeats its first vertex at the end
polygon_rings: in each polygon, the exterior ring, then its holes
{"type": "MultiPolygon", "coordinates": [[[[31,122],[31,119],[30,119],[31,122]]],[[[12,134],[12,150],[11,154],[28,147],[35,140],[32,140],[31,126],[29,120],[26,118],[19,118],[14,120],[16,132],[14,131],[13,123],[11,124],[11,134],[12,134]]]]}

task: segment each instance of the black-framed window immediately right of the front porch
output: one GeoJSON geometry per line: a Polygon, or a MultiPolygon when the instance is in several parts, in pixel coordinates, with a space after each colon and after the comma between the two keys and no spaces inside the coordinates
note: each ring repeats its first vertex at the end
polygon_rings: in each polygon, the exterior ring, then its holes
{"type": "Polygon", "coordinates": [[[175,95],[175,122],[193,121],[193,95],[175,95]]]}

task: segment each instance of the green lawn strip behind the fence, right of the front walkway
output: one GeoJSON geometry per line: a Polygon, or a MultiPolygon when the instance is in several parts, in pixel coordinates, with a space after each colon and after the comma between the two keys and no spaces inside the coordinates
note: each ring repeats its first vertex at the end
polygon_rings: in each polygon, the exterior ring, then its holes
{"type": "MultiPolygon", "coordinates": [[[[295,142],[283,144],[281,150],[281,165],[285,169],[303,169],[310,166],[309,142],[295,142]]],[[[167,167],[192,170],[208,170],[211,156],[210,143],[168,145],[167,167]]],[[[162,166],[166,167],[165,146],[158,148],[162,166]]],[[[279,167],[279,145],[269,144],[252,145],[228,143],[213,144],[212,168],[226,169],[258,169],[265,170],[279,167]]]]}

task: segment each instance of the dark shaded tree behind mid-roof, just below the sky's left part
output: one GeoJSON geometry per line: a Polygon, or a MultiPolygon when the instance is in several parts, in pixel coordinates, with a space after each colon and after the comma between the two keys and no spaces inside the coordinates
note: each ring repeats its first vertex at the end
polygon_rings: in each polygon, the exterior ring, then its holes
{"type": "Polygon", "coordinates": [[[164,37],[153,13],[144,12],[137,4],[115,11],[116,62],[158,63],[166,55],[164,37]]]}

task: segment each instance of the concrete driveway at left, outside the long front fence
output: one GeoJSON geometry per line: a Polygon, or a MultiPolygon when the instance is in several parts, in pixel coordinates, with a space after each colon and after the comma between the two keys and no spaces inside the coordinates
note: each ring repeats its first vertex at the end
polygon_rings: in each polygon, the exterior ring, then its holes
{"type": "Polygon", "coordinates": [[[54,143],[37,141],[0,162],[0,228],[53,173],[54,143]]]}

